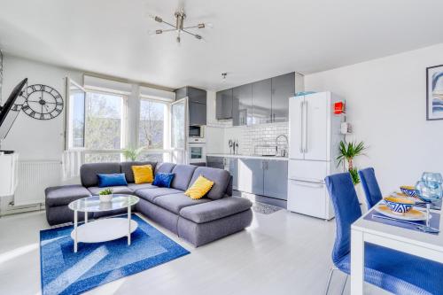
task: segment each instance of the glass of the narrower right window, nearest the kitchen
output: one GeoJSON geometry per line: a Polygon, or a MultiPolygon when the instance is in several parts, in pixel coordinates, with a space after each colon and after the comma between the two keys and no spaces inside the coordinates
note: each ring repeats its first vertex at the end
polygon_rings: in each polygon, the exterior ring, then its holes
{"type": "Polygon", "coordinates": [[[163,102],[140,99],[138,144],[149,149],[163,150],[167,136],[167,105],[163,102]]]}

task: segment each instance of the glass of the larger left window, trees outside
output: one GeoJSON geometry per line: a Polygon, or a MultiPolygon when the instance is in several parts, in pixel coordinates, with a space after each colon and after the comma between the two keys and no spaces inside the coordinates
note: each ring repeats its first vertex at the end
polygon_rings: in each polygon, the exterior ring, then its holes
{"type": "Polygon", "coordinates": [[[105,151],[122,148],[123,97],[87,92],[85,148],[105,151]]]}

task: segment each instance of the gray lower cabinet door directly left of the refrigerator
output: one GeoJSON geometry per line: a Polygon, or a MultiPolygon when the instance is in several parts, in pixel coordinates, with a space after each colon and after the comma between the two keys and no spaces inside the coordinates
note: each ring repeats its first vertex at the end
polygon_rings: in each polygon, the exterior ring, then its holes
{"type": "Polygon", "coordinates": [[[288,198],[288,162],[285,160],[266,159],[263,163],[263,195],[270,198],[288,198]]]}

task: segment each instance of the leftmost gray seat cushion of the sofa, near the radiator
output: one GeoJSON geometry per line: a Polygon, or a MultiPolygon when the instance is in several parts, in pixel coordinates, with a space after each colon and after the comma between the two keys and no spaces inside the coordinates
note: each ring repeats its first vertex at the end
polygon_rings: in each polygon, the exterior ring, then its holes
{"type": "Polygon", "coordinates": [[[44,190],[46,206],[66,206],[79,198],[90,197],[89,190],[80,184],[54,186],[44,190]]]}

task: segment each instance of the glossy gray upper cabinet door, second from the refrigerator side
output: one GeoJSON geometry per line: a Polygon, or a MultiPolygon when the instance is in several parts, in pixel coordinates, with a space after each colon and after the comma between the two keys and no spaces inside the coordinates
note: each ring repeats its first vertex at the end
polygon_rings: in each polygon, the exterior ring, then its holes
{"type": "Polygon", "coordinates": [[[253,83],[253,124],[270,123],[272,108],[272,79],[253,83]]]}

